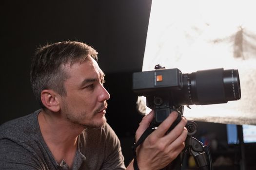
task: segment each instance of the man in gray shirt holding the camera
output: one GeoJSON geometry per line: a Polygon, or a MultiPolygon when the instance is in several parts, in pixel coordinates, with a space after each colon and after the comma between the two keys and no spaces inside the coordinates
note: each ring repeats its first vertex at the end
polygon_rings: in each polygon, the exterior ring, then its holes
{"type": "MultiPolygon", "coordinates": [[[[92,47],[46,45],[35,54],[31,84],[41,109],[0,127],[1,170],[124,170],[118,137],[107,124],[109,93],[92,47]]],[[[154,118],[145,116],[137,140],[154,118]]],[[[137,148],[139,170],[158,170],[184,148],[186,119],[166,135],[174,112],[137,148]]],[[[133,161],[127,170],[134,170],[133,161]]]]}

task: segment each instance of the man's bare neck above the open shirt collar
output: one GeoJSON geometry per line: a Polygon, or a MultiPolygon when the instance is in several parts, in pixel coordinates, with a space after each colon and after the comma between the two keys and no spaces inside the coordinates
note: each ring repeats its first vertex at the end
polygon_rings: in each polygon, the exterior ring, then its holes
{"type": "Polygon", "coordinates": [[[39,127],[43,139],[60,163],[63,159],[71,168],[78,145],[78,136],[84,127],[75,126],[61,117],[60,113],[41,111],[38,116],[39,127]]]}

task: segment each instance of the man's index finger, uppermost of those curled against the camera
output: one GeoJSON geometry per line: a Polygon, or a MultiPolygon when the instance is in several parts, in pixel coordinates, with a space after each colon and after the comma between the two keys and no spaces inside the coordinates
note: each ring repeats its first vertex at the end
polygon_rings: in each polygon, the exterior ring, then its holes
{"type": "Polygon", "coordinates": [[[178,113],[176,111],[172,112],[155,130],[155,136],[158,138],[165,136],[173,122],[177,119],[177,115],[178,113]]]}

